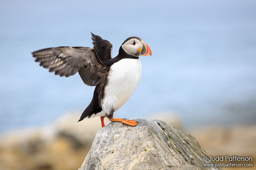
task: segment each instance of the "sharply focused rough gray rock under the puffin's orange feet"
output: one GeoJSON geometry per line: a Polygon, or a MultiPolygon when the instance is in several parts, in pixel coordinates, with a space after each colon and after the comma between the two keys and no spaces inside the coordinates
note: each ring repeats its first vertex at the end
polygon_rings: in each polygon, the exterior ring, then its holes
{"type": "Polygon", "coordinates": [[[135,121],[135,127],[112,122],[101,128],[79,170],[217,169],[204,167],[206,163],[214,164],[202,160],[210,156],[193,136],[171,123],[135,121]]]}

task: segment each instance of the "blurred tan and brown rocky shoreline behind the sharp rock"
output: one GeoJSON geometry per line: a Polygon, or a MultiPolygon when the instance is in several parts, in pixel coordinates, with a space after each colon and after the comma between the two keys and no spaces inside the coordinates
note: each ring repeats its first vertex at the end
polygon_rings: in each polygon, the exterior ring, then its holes
{"type": "MultiPolygon", "coordinates": [[[[97,131],[101,128],[98,118],[85,119],[77,123],[79,116],[80,113],[66,114],[43,127],[16,130],[1,135],[0,169],[79,169],[90,150],[97,131]]],[[[170,120],[163,121],[171,122],[170,120]]],[[[180,122],[175,123],[179,124],[180,122]]],[[[256,157],[255,124],[232,127],[211,125],[187,132],[194,136],[200,146],[211,156],[256,157]]],[[[254,160],[253,164],[256,165],[254,160]]],[[[236,169],[248,170],[250,168],[236,169]]]]}

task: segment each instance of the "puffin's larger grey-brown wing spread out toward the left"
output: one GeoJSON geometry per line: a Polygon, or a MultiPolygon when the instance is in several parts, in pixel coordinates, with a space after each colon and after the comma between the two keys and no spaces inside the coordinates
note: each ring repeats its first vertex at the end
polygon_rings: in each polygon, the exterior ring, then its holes
{"type": "Polygon", "coordinates": [[[54,47],[32,52],[35,62],[48,68],[55,75],[69,77],[77,71],[83,82],[89,86],[96,86],[102,73],[107,71],[95,49],[89,47],[54,47]]]}

